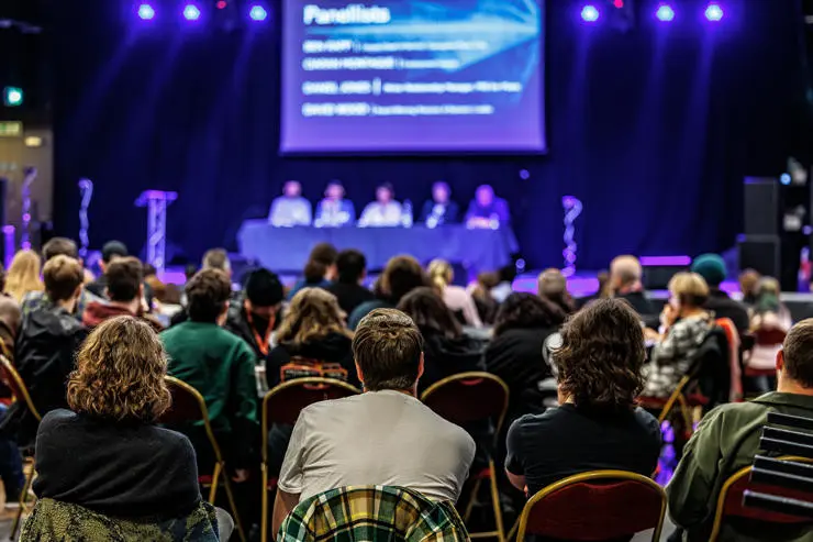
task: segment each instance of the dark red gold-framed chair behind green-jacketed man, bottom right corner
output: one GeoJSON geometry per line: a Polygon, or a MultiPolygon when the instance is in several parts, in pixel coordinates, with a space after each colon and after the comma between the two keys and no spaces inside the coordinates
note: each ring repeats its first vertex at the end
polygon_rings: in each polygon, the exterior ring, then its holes
{"type": "MultiPolygon", "coordinates": [[[[779,460],[794,463],[813,463],[813,460],[811,458],[790,455],[781,456],[779,460]]],[[[712,523],[712,532],[709,537],[709,542],[717,541],[723,523],[726,519],[731,518],[745,518],[765,523],[810,524],[810,518],[789,516],[787,513],[744,506],[743,497],[746,490],[765,493],[766,488],[770,488],[771,494],[780,497],[799,498],[801,500],[808,500],[810,498],[810,491],[753,483],[750,479],[753,469],[754,467],[751,465],[743,467],[734,473],[727,480],[725,480],[725,484],[723,484],[720,495],[717,496],[717,504],[714,510],[714,522],[712,523]]]]}

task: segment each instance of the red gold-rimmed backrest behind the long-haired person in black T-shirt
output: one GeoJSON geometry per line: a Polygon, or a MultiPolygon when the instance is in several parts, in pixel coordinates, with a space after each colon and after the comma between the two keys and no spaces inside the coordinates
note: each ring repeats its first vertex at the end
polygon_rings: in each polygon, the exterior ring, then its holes
{"type": "Polygon", "coordinates": [[[536,534],[561,540],[609,540],[654,529],[660,540],[666,494],[625,471],[593,471],[547,486],[527,501],[516,540],[536,534]]]}

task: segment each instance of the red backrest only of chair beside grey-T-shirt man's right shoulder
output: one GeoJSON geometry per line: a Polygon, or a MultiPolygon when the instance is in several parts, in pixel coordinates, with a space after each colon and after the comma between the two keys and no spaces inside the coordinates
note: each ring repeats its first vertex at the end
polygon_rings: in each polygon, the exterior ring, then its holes
{"type": "Polygon", "coordinates": [[[508,410],[509,388],[501,378],[489,373],[460,373],[426,388],[421,400],[457,425],[493,420],[494,433],[500,434],[508,410]]]}

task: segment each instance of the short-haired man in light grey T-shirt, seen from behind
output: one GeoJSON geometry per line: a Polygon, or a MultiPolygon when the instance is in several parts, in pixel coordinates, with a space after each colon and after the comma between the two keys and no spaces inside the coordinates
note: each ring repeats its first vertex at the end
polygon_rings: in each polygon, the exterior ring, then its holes
{"type": "Polygon", "coordinates": [[[401,486],[456,501],[475,441],[415,398],[423,338],[406,314],[377,309],[353,340],[366,392],[302,410],[293,428],[274,505],[274,527],[300,500],[357,485],[401,486]]]}

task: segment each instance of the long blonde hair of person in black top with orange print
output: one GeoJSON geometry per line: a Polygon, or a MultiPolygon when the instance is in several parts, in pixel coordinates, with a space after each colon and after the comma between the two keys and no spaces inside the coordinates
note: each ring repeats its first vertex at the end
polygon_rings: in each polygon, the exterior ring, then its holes
{"type": "Polygon", "coordinates": [[[322,288],[302,288],[291,299],[277,331],[277,343],[305,343],[330,333],[352,338],[344,324],[344,312],[336,297],[322,288]]]}

